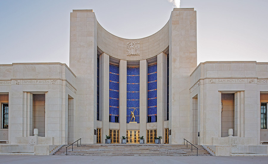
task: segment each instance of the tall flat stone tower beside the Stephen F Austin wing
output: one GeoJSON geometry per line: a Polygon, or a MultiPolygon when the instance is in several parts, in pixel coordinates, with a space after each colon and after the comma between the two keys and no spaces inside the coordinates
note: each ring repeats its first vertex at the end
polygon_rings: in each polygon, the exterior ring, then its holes
{"type": "Polygon", "coordinates": [[[97,128],[97,20],[93,10],[70,14],[70,69],[76,75],[74,140],[96,143],[97,128]]]}

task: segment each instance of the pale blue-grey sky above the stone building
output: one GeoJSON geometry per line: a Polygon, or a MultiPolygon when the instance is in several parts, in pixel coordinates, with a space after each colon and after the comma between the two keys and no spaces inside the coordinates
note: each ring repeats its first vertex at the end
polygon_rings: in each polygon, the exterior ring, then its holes
{"type": "MultiPolygon", "coordinates": [[[[197,11],[197,63],[268,62],[268,0],[181,0],[197,11]]],[[[69,65],[72,9],[93,9],[99,23],[123,38],[142,38],[169,20],[168,0],[0,0],[0,64],[69,65]]]]}

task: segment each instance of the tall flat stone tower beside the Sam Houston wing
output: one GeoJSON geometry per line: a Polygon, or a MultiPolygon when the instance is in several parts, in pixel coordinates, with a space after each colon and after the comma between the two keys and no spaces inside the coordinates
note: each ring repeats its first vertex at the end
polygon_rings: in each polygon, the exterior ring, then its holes
{"type": "Polygon", "coordinates": [[[190,75],[197,66],[196,11],[174,8],[169,19],[169,143],[191,139],[190,75]]]}

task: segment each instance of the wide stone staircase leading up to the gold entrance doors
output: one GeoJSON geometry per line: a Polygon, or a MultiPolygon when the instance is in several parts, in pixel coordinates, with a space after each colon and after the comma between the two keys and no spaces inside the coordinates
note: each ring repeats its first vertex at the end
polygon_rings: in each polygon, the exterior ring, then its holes
{"type": "MultiPolygon", "coordinates": [[[[62,146],[54,155],[66,155],[66,146],[62,146]]],[[[198,156],[209,156],[209,152],[202,146],[198,148],[198,156]]],[[[73,145],[67,148],[68,155],[85,156],[196,156],[196,148],[191,145],[171,144],[88,144],[73,145]]]]}

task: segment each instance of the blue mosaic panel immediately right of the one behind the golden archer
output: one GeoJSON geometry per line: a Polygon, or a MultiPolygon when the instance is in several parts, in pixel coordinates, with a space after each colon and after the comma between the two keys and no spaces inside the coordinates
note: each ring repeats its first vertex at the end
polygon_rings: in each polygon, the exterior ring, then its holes
{"type": "Polygon", "coordinates": [[[157,115],[157,63],[148,65],[147,79],[147,116],[151,116],[154,123],[157,115]]]}

